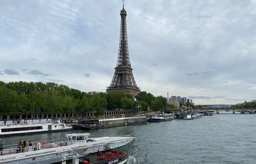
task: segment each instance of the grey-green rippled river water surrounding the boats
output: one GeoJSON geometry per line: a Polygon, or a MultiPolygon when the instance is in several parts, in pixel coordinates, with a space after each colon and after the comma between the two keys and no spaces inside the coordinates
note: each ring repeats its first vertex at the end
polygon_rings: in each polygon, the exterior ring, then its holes
{"type": "MultiPolygon", "coordinates": [[[[172,120],[99,130],[72,130],[107,136],[128,134],[136,138],[128,164],[254,164],[256,114],[214,114],[195,120],[172,120]]],[[[13,136],[36,141],[64,138],[66,132],[13,136]]],[[[3,138],[0,138],[1,140],[3,138]]]]}

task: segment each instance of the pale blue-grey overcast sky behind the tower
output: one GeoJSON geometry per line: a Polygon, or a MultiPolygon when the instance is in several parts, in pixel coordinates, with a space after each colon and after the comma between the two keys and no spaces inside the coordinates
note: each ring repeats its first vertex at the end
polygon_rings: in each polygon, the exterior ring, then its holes
{"type": "MultiPolygon", "coordinates": [[[[0,80],[106,92],[122,0],[1,0],[0,80]]],[[[141,91],[195,104],[256,99],[256,0],[125,0],[141,91]]]]}

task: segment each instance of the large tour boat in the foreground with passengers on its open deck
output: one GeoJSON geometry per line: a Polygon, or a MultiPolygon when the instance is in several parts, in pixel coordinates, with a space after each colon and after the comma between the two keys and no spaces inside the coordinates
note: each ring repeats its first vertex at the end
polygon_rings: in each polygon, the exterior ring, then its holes
{"type": "Polygon", "coordinates": [[[132,136],[89,138],[89,133],[66,134],[65,141],[39,142],[16,154],[16,148],[4,149],[0,164],[124,164],[136,139],[132,136]]]}

